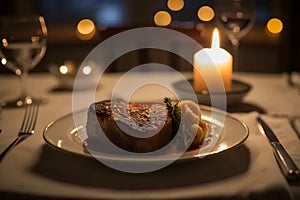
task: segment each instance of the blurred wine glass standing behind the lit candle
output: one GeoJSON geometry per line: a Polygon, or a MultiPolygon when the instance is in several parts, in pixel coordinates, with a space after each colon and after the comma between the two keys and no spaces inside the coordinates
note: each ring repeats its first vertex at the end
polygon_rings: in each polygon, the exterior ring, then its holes
{"type": "Polygon", "coordinates": [[[255,0],[216,0],[216,23],[233,46],[234,71],[238,71],[240,39],[255,23],[255,0]]]}

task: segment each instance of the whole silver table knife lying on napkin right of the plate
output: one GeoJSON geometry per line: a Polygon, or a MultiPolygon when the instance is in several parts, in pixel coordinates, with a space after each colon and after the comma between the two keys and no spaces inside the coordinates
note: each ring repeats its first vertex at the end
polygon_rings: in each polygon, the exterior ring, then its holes
{"type": "Polygon", "coordinates": [[[257,117],[257,121],[258,129],[268,138],[269,143],[274,150],[275,158],[279,163],[280,169],[285,177],[288,180],[298,179],[300,177],[299,169],[297,168],[297,165],[295,164],[293,159],[281,145],[275,133],[261,117],[257,117]]]}

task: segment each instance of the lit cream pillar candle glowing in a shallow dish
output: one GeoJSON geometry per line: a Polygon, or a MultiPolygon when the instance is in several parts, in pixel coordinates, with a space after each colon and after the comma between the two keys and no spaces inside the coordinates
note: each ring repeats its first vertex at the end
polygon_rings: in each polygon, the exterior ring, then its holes
{"type": "Polygon", "coordinates": [[[196,92],[208,91],[206,83],[209,83],[209,92],[221,92],[224,89],[214,83],[221,76],[225,91],[231,90],[232,56],[225,49],[220,48],[218,29],[214,29],[211,48],[204,48],[194,55],[194,90],[196,92]],[[218,73],[219,72],[219,73],[218,73]],[[211,91],[213,89],[213,91],[211,91]]]}

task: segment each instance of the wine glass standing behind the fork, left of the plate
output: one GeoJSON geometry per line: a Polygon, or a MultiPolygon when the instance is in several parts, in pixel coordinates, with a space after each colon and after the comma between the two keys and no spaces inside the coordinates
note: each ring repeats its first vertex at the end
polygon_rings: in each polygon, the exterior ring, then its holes
{"type": "Polygon", "coordinates": [[[0,61],[18,77],[21,94],[5,102],[5,107],[22,107],[42,99],[26,93],[25,79],[46,52],[47,28],[42,16],[4,16],[0,18],[0,61]]]}

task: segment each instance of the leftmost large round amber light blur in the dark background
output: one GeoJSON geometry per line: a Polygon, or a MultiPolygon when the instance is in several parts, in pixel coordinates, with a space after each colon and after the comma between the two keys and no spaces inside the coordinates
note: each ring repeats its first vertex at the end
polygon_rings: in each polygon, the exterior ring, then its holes
{"type": "Polygon", "coordinates": [[[83,19],[77,24],[76,33],[81,40],[90,40],[95,36],[96,27],[92,20],[83,19]]]}

